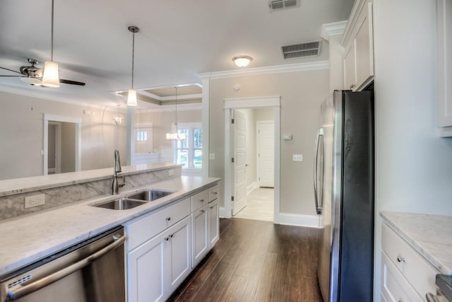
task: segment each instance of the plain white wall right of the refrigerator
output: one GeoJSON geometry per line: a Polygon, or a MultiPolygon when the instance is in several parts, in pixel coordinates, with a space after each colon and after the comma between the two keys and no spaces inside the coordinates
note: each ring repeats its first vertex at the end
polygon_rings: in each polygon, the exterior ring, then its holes
{"type": "Polygon", "coordinates": [[[452,215],[452,139],[436,126],[436,1],[374,0],[378,212],[452,215]]]}

